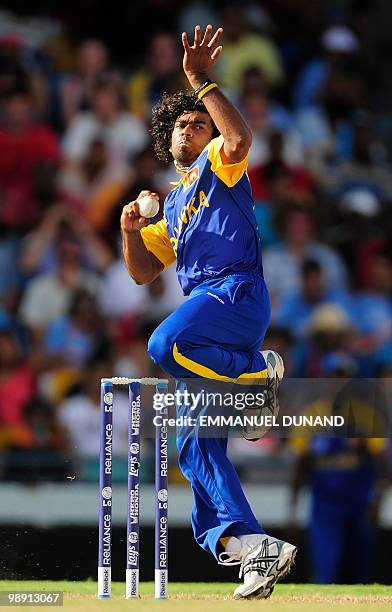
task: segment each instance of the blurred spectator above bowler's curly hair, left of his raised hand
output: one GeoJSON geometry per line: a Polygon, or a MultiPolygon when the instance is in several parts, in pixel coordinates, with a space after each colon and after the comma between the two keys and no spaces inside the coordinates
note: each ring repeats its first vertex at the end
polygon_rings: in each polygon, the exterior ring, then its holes
{"type": "Polygon", "coordinates": [[[128,83],[129,110],[143,121],[149,121],[151,108],[163,93],[184,89],[184,74],[180,69],[178,40],[169,32],[151,38],[145,64],[128,83]]]}

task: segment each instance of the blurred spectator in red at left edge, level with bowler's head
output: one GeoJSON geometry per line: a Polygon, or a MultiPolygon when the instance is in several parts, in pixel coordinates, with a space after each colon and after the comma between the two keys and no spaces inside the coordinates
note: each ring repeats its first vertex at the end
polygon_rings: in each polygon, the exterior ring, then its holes
{"type": "Polygon", "coordinates": [[[30,94],[24,84],[4,100],[0,129],[0,223],[8,231],[25,232],[42,212],[42,181],[60,163],[52,130],[33,120],[30,94]]]}

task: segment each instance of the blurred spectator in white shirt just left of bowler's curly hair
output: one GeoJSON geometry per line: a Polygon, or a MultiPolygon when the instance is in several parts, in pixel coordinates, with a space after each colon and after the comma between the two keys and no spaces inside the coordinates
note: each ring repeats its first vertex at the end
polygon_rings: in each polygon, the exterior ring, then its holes
{"type": "Polygon", "coordinates": [[[107,79],[94,87],[92,110],[75,115],[65,132],[66,161],[82,163],[95,140],[105,143],[109,160],[116,163],[125,163],[147,143],[147,131],[142,122],[123,110],[118,85],[107,79]]]}

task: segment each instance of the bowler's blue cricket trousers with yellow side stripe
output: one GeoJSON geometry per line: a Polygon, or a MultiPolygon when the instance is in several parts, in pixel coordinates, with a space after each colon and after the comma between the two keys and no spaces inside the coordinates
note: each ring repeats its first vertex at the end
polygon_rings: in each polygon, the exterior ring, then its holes
{"type": "MultiPolygon", "coordinates": [[[[265,378],[259,353],[270,320],[270,304],[259,274],[233,274],[209,280],[191,292],[152,334],[148,352],[174,378],[265,378]]],[[[189,381],[191,382],[191,381],[189,381]]],[[[184,407],[178,407],[183,413],[184,407]]],[[[193,495],[195,539],[215,557],[219,540],[264,533],[227,457],[227,437],[206,438],[177,431],[179,465],[193,495]]]]}

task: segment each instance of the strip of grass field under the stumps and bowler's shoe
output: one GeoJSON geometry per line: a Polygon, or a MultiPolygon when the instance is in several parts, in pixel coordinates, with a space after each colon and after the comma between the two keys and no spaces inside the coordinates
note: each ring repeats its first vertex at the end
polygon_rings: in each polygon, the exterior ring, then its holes
{"type": "MultiPolygon", "coordinates": [[[[49,582],[49,581],[0,581],[0,591],[64,591],[64,607],[74,612],[92,610],[111,610],[113,612],[147,612],[164,610],[164,612],[232,612],[245,609],[271,612],[330,612],[331,606],[337,606],[338,612],[354,610],[392,609],[392,586],[385,585],[328,585],[281,584],[275,588],[268,600],[234,601],[232,592],[234,584],[227,583],[169,583],[170,599],[155,601],[152,582],[141,583],[140,600],[124,599],[124,584],[113,583],[112,598],[96,599],[95,582],[49,582]]],[[[3,609],[11,609],[5,606],[3,609]]],[[[31,606],[18,606],[18,610],[31,606]]],[[[56,608],[57,609],[57,608],[56,608]]]]}

